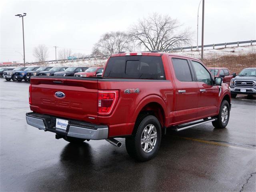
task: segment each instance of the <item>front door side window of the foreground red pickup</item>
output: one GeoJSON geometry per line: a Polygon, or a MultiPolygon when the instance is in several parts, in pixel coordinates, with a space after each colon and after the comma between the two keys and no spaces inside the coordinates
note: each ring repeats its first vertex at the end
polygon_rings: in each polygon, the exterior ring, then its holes
{"type": "Polygon", "coordinates": [[[205,84],[212,85],[212,79],[210,73],[199,62],[192,61],[192,66],[196,72],[196,80],[204,82],[205,84]]]}

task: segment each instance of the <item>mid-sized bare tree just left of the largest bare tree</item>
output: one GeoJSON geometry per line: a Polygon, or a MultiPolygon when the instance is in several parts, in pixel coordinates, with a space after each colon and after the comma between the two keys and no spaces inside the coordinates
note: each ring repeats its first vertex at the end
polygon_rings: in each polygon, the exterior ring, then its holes
{"type": "Polygon", "coordinates": [[[110,55],[121,51],[130,51],[129,36],[124,32],[106,33],[94,45],[92,55],[110,55]]]}

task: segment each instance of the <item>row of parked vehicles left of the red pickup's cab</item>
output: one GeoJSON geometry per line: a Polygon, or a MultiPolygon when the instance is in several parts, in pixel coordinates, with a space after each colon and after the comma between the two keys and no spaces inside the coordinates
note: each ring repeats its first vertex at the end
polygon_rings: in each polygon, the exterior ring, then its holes
{"type": "Polygon", "coordinates": [[[32,76],[101,76],[104,67],[16,67],[1,68],[0,78],[29,82],[32,76]]]}

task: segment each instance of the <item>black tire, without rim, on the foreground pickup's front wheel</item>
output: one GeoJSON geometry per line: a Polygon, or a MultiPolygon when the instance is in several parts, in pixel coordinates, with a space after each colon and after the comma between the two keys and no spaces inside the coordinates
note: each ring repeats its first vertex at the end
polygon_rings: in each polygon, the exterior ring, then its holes
{"type": "MultiPolygon", "coordinates": [[[[225,111],[226,113],[226,111],[225,111]]],[[[216,116],[217,120],[216,121],[213,121],[212,122],[212,125],[215,127],[215,128],[225,128],[227,125],[228,125],[228,120],[229,120],[229,116],[230,116],[230,106],[229,106],[229,103],[227,100],[223,100],[221,105],[220,105],[220,111],[219,111],[219,114],[218,116],[216,116]],[[227,118],[226,118],[226,121],[223,122],[225,120],[225,118],[223,119],[222,121],[222,112],[224,110],[226,106],[226,109],[227,109],[227,118]]]]}

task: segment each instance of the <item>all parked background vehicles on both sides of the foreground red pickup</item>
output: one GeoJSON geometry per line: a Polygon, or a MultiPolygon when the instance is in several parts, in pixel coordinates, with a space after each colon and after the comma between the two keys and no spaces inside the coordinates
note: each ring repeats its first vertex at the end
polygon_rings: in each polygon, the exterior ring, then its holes
{"type": "MultiPolygon", "coordinates": [[[[230,74],[228,68],[208,68],[213,77],[222,77],[230,86],[232,98],[237,94],[256,94],[256,68],[245,68],[238,75],[230,74]]],[[[7,81],[30,81],[31,76],[100,77],[104,67],[17,67],[0,68],[0,78],[7,81]]]]}

